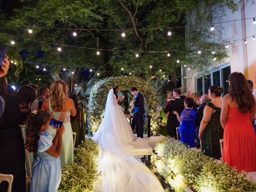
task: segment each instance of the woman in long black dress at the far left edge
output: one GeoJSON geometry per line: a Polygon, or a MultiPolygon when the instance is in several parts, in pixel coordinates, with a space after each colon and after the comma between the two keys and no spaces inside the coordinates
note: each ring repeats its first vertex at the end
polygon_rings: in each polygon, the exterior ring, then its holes
{"type": "MultiPolygon", "coordinates": [[[[5,77],[0,78],[0,95],[5,102],[0,120],[0,173],[14,176],[12,192],[25,192],[25,148],[19,124],[30,109],[19,95],[8,94],[5,77]]],[[[7,182],[0,184],[1,192],[6,192],[7,188],[7,182]]]]}

